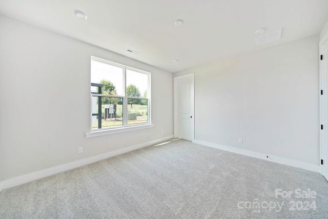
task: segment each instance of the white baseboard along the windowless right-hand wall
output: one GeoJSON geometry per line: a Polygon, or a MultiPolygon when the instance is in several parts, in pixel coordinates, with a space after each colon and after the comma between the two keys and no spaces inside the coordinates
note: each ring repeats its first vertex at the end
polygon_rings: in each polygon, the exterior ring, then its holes
{"type": "Polygon", "coordinates": [[[242,155],[246,155],[246,156],[251,156],[251,157],[259,158],[261,160],[275,162],[275,163],[278,163],[278,164],[284,164],[284,165],[288,165],[288,166],[292,166],[292,167],[302,168],[302,169],[305,169],[305,170],[311,170],[311,171],[314,171],[314,172],[319,172],[319,169],[320,169],[319,165],[317,166],[317,165],[314,165],[314,164],[309,164],[309,163],[305,163],[305,162],[290,160],[290,159],[279,157],[279,156],[273,156],[273,155],[270,155],[270,154],[264,154],[264,153],[249,151],[249,150],[235,148],[235,147],[231,147],[231,146],[219,145],[219,144],[215,144],[215,143],[211,143],[211,142],[205,142],[205,141],[201,141],[201,140],[194,140],[193,143],[203,145],[203,146],[212,147],[212,148],[221,149],[221,150],[224,150],[224,151],[230,151],[230,152],[233,152],[233,153],[238,153],[238,154],[242,154],[242,155]],[[267,158],[267,156],[269,156],[269,158],[267,158]]]}

